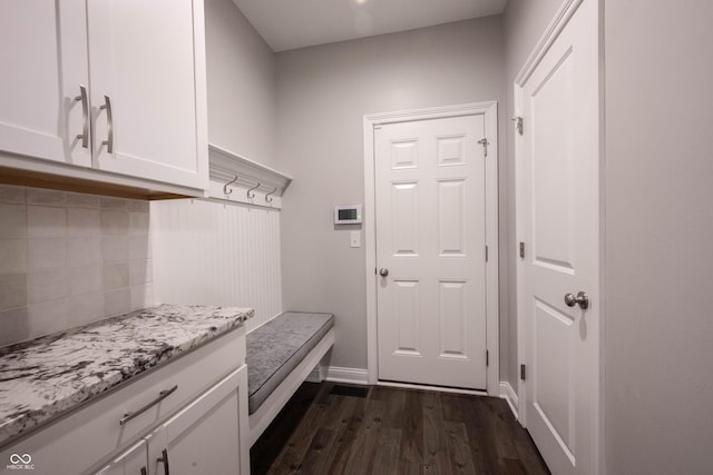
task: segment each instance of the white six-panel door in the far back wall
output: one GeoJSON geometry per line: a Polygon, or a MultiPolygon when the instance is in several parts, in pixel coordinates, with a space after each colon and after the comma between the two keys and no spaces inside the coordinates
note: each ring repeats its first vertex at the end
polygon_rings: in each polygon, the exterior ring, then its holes
{"type": "Polygon", "coordinates": [[[486,388],[482,115],[374,130],[379,379],[486,388]]]}

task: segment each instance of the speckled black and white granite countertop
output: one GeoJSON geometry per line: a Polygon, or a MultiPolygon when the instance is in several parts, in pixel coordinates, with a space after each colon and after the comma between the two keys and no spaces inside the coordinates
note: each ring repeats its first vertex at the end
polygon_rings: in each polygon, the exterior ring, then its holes
{"type": "Polygon", "coordinates": [[[159,305],[0,348],[0,446],[253,315],[159,305]]]}

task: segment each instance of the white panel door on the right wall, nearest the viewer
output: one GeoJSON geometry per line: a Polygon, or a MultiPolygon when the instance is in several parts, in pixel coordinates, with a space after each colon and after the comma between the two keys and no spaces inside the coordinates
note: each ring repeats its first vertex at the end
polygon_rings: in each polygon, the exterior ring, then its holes
{"type": "Polygon", "coordinates": [[[595,472],[599,344],[596,6],[585,0],[578,7],[520,91],[524,422],[555,474],[595,472]],[[579,291],[587,294],[588,307],[566,303],[567,294],[575,297],[579,291]]]}

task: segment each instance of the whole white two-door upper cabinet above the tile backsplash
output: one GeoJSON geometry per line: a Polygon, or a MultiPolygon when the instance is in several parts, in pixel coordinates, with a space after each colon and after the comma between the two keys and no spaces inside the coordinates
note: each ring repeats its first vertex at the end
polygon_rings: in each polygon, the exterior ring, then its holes
{"type": "Polygon", "coordinates": [[[207,189],[204,29],[201,0],[2,0],[0,151],[207,189]]]}

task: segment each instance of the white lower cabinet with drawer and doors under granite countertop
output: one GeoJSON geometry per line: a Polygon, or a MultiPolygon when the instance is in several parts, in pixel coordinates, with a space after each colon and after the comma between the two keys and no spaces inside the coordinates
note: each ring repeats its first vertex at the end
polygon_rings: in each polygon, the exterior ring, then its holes
{"type": "Polygon", "coordinates": [[[31,456],[36,475],[248,474],[245,327],[0,448],[0,461],[12,454],[31,456]]]}

